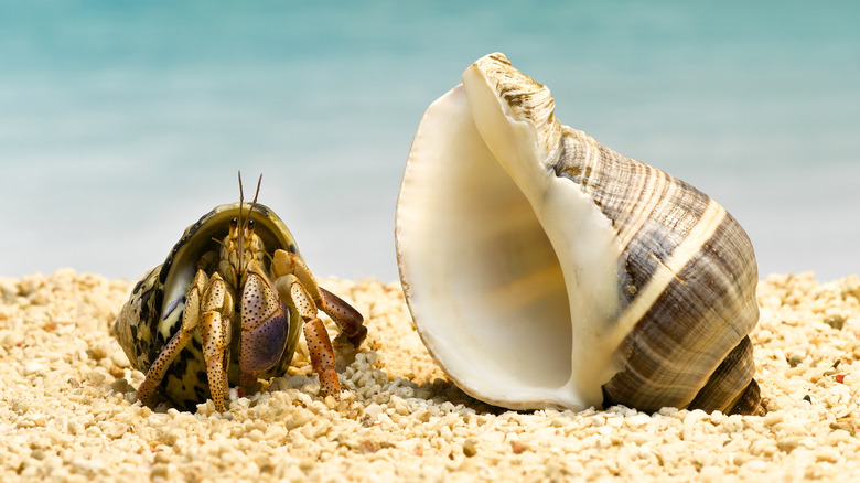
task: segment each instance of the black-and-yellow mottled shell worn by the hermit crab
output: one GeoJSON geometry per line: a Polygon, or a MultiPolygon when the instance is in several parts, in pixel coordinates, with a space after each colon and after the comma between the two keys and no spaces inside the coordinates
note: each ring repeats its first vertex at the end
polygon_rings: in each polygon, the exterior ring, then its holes
{"type": "MultiPolygon", "coordinates": [[[[212,275],[217,268],[219,244],[229,230],[230,219],[238,218],[240,214],[247,218],[251,204],[245,203],[241,206],[241,213],[239,203],[232,203],[216,206],[203,215],[185,229],[164,262],[149,270],[132,289],[129,301],[122,307],[114,325],[114,333],[131,365],[138,371],[146,373],[164,344],[179,331],[185,309],[185,296],[194,275],[197,269],[212,275]]],[[[262,240],[269,260],[278,248],[299,254],[295,240],[278,215],[260,204],[255,204],[250,213],[255,222],[255,233],[262,240]]],[[[234,318],[234,334],[238,333],[236,323],[234,318]]],[[[288,344],[281,359],[260,377],[286,374],[300,331],[301,320],[298,313],[290,313],[288,344]]],[[[238,385],[237,341],[238,337],[233,337],[229,351],[232,364],[228,375],[233,386],[238,385]]],[[[197,402],[209,398],[207,380],[202,344],[200,335],[196,334],[192,343],[171,364],[160,389],[178,408],[191,409],[197,402]]]]}

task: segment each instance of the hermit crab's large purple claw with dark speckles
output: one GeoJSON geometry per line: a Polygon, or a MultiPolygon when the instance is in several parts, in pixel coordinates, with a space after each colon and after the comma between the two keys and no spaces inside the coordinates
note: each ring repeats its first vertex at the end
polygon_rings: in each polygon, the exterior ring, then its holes
{"type": "Polygon", "coordinates": [[[287,307],[256,261],[248,265],[240,307],[239,384],[249,389],[280,361],[289,332],[287,307]]]}

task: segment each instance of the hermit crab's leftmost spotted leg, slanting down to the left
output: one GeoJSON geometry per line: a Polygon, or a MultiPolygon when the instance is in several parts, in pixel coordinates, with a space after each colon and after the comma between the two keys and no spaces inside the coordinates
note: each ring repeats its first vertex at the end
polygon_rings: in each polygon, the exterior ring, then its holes
{"type": "Polygon", "coordinates": [[[206,273],[197,271],[194,277],[189,294],[185,298],[185,311],[182,315],[182,326],[179,332],[173,334],[168,341],[168,344],[161,351],[155,361],[149,366],[147,371],[147,377],[138,387],[137,398],[144,405],[150,404],[152,395],[155,393],[155,388],[159,387],[161,380],[164,378],[164,374],[168,372],[168,367],[174,358],[185,348],[189,341],[194,336],[194,330],[197,328],[200,321],[200,301],[203,291],[206,288],[208,279],[206,273]]]}

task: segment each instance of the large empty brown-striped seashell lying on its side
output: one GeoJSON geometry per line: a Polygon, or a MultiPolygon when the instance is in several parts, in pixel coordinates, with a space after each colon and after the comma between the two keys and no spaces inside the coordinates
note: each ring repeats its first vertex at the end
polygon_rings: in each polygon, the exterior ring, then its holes
{"type": "Polygon", "coordinates": [[[451,379],[512,409],[760,411],[738,222],[561,125],[503,54],[462,80],[421,119],[396,218],[409,309],[451,379]]]}

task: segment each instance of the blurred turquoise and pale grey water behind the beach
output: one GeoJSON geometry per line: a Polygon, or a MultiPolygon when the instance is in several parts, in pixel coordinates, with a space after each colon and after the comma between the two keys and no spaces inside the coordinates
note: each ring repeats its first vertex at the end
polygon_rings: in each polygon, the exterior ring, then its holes
{"type": "Polygon", "coordinates": [[[762,277],[860,273],[860,2],[329,3],[0,0],[0,276],[137,278],[241,170],[318,276],[396,280],[418,121],[495,51],[762,277]]]}

